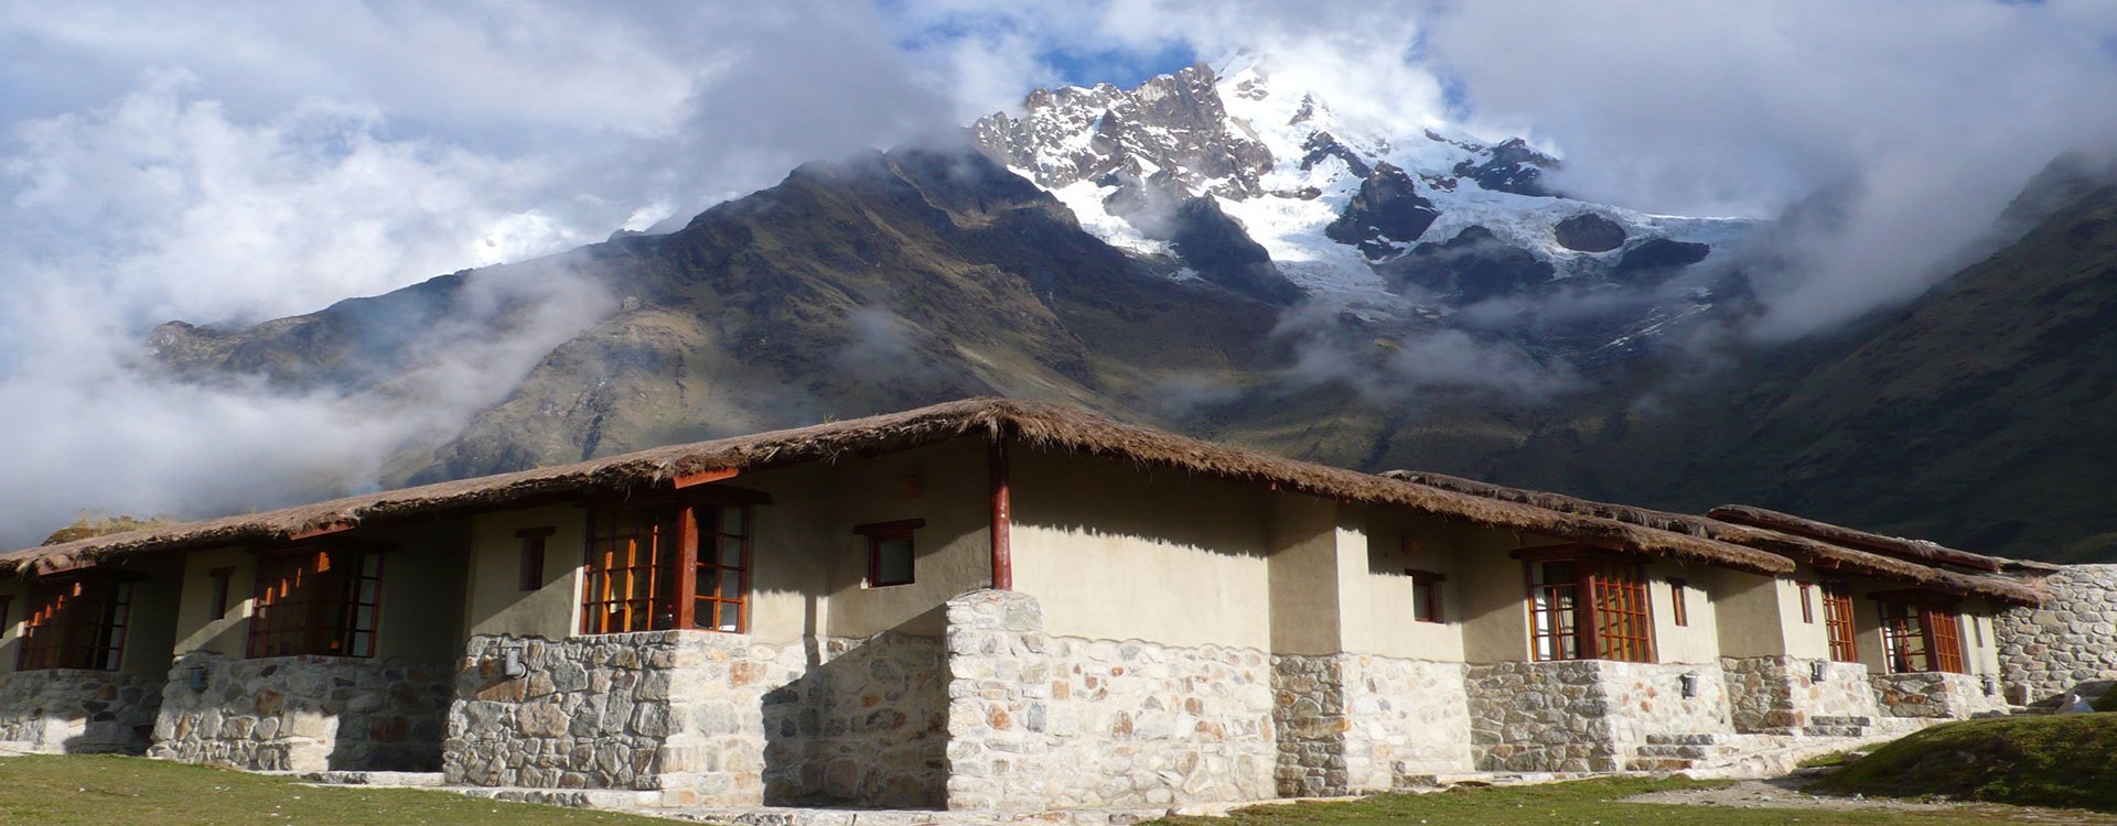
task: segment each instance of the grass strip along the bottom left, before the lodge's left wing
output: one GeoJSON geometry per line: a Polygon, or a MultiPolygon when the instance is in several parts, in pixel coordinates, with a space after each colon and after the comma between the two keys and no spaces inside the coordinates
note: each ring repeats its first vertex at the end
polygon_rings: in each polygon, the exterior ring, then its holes
{"type": "Polygon", "coordinates": [[[646,826],[667,820],[409,788],[313,788],[286,777],[135,756],[8,756],[0,758],[0,824],[646,826]]]}

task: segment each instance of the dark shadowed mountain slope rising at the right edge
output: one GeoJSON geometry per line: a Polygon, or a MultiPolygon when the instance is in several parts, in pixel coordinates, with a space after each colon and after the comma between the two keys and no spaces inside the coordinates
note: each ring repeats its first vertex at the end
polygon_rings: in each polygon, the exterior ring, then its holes
{"type": "MultiPolygon", "coordinates": [[[[2117,184],[2077,186],[1918,302],[1753,353],[1482,467],[1698,511],[1749,501],[1958,547],[2117,560],[2117,184]]],[[[2028,192],[2039,196],[2043,192],[2028,192]]]]}

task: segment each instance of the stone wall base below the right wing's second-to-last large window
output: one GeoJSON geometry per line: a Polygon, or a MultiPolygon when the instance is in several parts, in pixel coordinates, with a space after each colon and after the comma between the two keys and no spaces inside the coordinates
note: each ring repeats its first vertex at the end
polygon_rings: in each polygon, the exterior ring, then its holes
{"type": "Polygon", "coordinates": [[[1795,733],[1816,718],[1876,718],[1867,665],[1802,657],[1721,657],[1734,731],[1795,733]],[[1814,665],[1823,663],[1823,680],[1814,665]]]}

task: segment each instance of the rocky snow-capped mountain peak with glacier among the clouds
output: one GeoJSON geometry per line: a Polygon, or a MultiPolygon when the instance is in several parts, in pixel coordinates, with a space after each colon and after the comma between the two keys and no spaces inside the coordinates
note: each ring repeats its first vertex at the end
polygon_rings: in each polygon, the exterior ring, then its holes
{"type": "Polygon", "coordinates": [[[1664,281],[1753,228],[1577,201],[1552,182],[1560,161],[1526,139],[1484,142],[1437,114],[1397,120],[1425,127],[1393,135],[1340,116],[1268,55],[1243,53],[1137,89],[1037,91],[1020,114],[970,131],[1084,228],[1173,256],[1179,277],[1251,289],[1264,266],[1344,304],[1446,311],[1562,283],[1664,281]],[[1200,264],[1202,237],[1260,254],[1219,273],[1200,264]]]}

